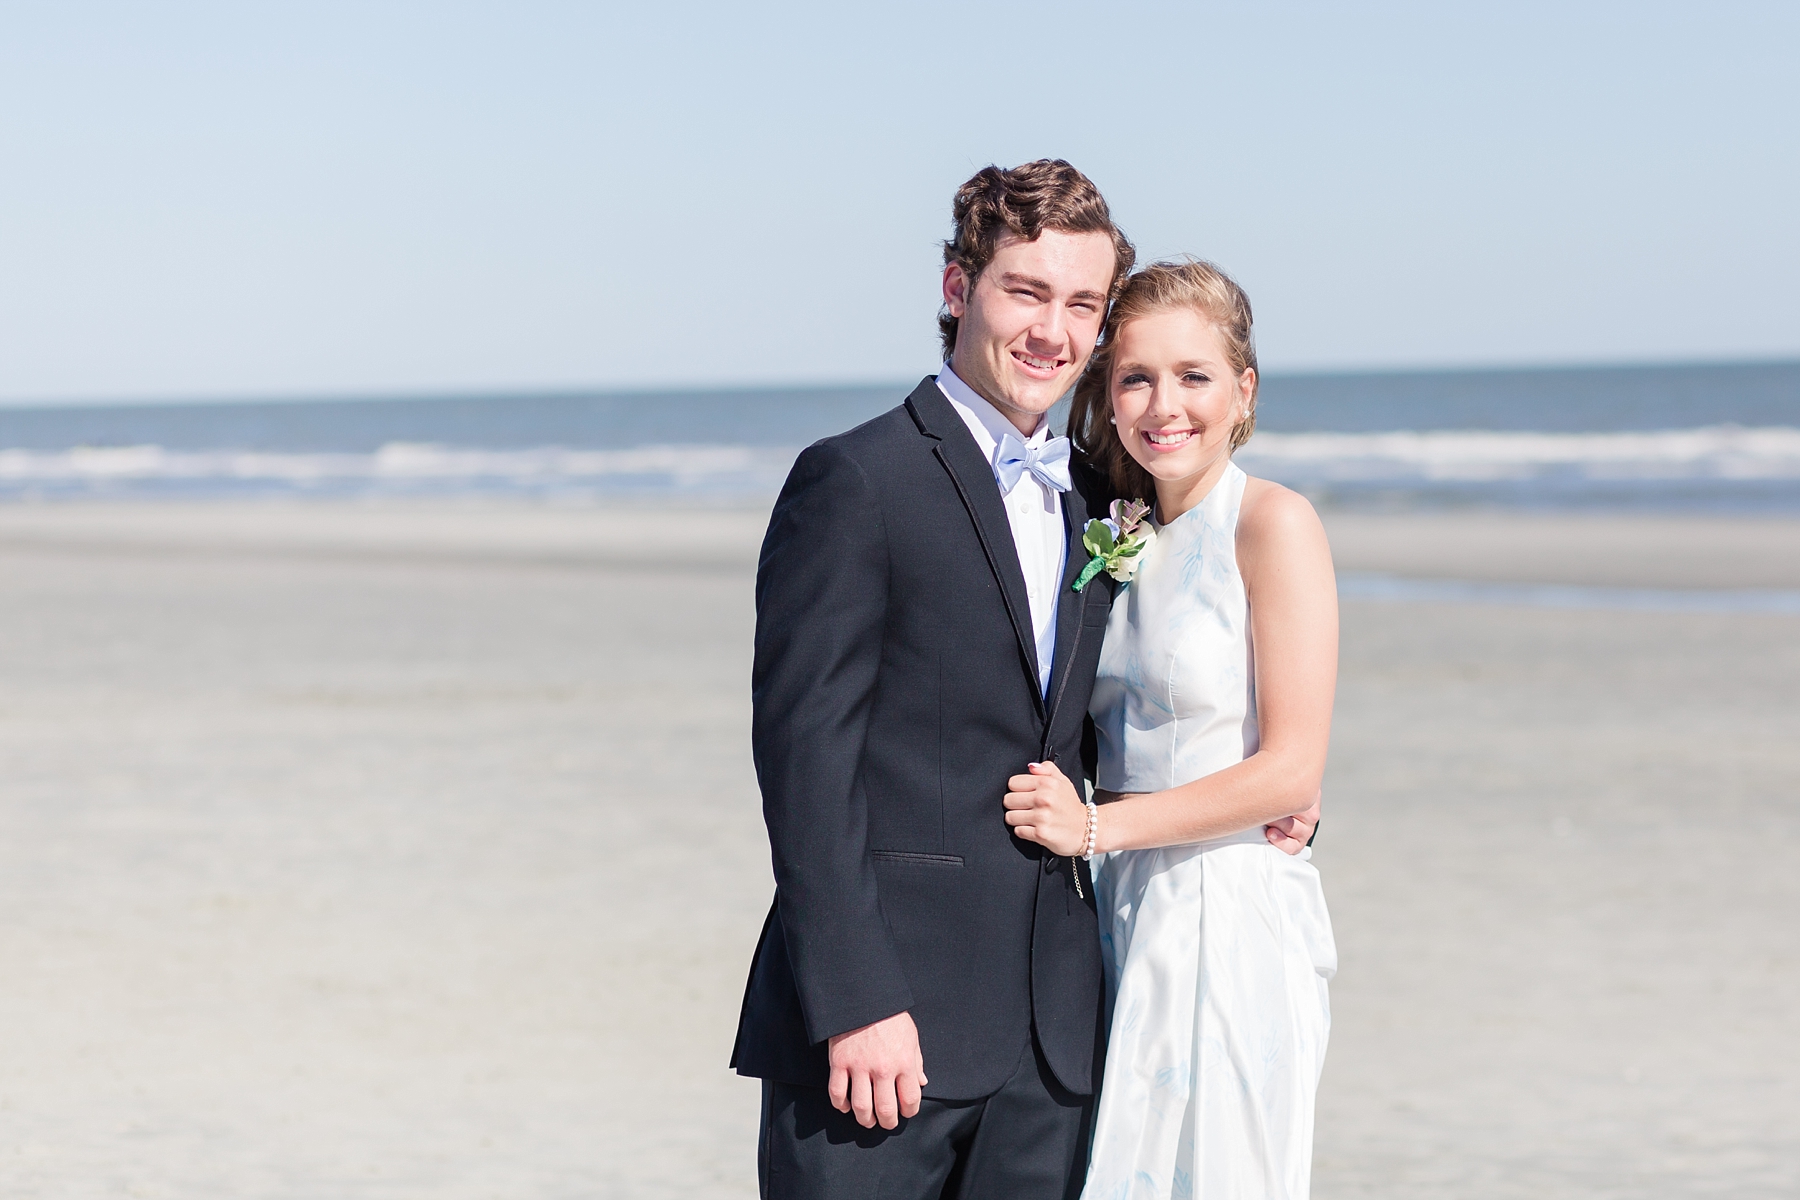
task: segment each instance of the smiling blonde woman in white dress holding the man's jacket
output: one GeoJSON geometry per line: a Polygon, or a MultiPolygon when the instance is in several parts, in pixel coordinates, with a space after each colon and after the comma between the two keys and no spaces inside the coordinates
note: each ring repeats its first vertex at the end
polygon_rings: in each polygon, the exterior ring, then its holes
{"type": "Polygon", "coordinates": [[[1120,497],[1154,500],[1154,536],[1111,563],[1129,583],[1091,705],[1102,808],[1049,763],[1006,799],[1019,837],[1105,855],[1112,1024],[1089,1198],[1309,1189],[1337,954],[1282,819],[1319,792],[1337,599],[1312,506],[1231,462],[1255,421],[1244,291],[1206,263],[1134,275],[1069,421],[1120,497]]]}

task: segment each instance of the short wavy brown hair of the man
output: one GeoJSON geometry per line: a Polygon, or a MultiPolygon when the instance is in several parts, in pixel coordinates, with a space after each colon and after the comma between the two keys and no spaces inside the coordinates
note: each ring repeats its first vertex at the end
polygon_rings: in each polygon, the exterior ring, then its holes
{"type": "MultiPolygon", "coordinates": [[[[943,264],[959,264],[968,275],[970,288],[994,261],[994,252],[1008,234],[1026,241],[1037,241],[1046,228],[1062,234],[1105,234],[1112,239],[1114,261],[1109,295],[1118,295],[1120,284],[1138,261],[1138,252],[1112,223],[1100,189],[1062,158],[1039,158],[1010,171],[981,167],[972,180],[956,189],[950,216],[956,221],[956,234],[943,243],[943,264]]],[[[949,308],[938,313],[945,358],[956,351],[958,324],[949,308]]]]}

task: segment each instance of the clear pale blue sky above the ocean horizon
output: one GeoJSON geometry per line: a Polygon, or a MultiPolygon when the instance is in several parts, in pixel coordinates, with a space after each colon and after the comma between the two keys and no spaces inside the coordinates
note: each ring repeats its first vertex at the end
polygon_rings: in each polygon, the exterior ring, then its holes
{"type": "Polygon", "coordinates": [[[1791,4],[11,4],[0,401],[911,380],[1087,171],[1271,369],[1800,354],[1791,4]]]}

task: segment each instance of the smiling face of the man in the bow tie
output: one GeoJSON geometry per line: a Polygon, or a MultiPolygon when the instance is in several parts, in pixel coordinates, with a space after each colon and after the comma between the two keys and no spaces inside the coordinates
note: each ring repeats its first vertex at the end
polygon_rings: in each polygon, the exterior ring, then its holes
{"type": "Polygon", "coordinates": [[[1044,230],[1001,241],[974,288],[961,266],[943,268],[943,302],[959,322],[950,367],[1021,434],[1094,353],[1114,263],[1105,234],[1044,230]]]}

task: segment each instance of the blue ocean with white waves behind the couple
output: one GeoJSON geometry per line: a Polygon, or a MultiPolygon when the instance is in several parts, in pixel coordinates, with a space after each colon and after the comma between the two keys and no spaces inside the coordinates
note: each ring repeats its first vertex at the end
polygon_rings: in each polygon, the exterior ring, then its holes
{"type": "MultiPolygon", "coordinates": [[[[754,502],[871,387],[0,408],[0,500],[754,502]]],[[[1800,362],[1271,374],[1238,462],[1321,507],[1800,511],[1800,362]]]]}

